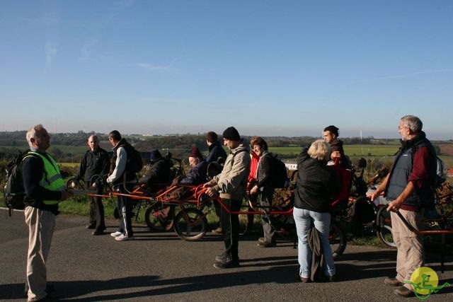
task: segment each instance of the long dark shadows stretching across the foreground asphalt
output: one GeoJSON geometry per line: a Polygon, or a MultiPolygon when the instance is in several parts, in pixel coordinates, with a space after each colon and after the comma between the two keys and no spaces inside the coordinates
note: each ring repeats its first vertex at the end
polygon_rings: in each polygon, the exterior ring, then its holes
{"type": "MultiPolygon", "coordinates": [[[[336,262],[337,283],[343,281],[354,281],[360,279],[374,279],[394,274],[394,252],[372,251],[357,252],[343,255],[336,262]],[[345,261],[357,260],[360,265],[351,265],[345,261]],[[372,260],[372,262],[369,262],[372,260]],[[366,265],[363,265],[366,263],[366,265]]],[[[206,265],[211,265],[207,263],[206,265]]],[[[263,267],[263,269],[241,270],[225,269],[215,270],[217,274],[206,274],[202,276],[180,277],[171,279],[160,279],[159,276],[134,276],[105,281],[80,280],[54,282],[56,293],[59,298],[68,301],[110,301],[125,298],[141,298],[147,296],[161,296],[167,294],[183,294],[205,291],[210,289],[221,289],[230,286],[243,286],[248,284],[290,284],[298,283],[294,278],[297,273],[297,256],[287,257],[260,257],[241,261],[241,267],[263,267]],[[144,289],[141,289],[144,288],[144,289]],[[118,290],[131,291],[125,294],[118,294],[118,290]],[[115,291],[115,293],[109,293],[115,291]],[[96,293],[99,293],[96,295],[96,293]],[[89,297],[83,298],[83,296],[89,297]]],[[[437,269],[437,267],[432,267],[437,269]]],[[[453,269],[453,266],[445,267],[453,269]]],[[[453,284],[452,280],[445,280],[453,284]]],[[[442,284],[445,282],[442,281],[442,284]]],[[[379,286],[380,284],[377,284],[379,286]]],[[[319,286],[319,284],[308,284],[308,286],[319,286]]],[[[1,299],[23,298],[23,284],[0,284],[1,299]]],[[[451,293],[453,288],[442,289],[442,293],[451,293]]]]}

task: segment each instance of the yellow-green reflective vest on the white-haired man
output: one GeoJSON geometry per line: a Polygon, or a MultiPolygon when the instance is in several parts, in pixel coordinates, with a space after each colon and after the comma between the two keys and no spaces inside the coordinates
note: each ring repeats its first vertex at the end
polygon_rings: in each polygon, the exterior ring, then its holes
{"type": "MultiPolygon", "coordinates": [[[[43,156],[38,152],[30,151],[29,154],[32,153],[36,156],[40,156],[42,159],[42,163],[44,163],[44,173],[40,180],[40,186],[45,187],[47,190],[52,191],[64,191],[66,190],[66,186],[64,184],[64,180],[62,175],[59,172],[59,168],[57,163],[51,156],[43,156]]],[[[44,204],[58,204],[59,200],[43,200],[44,204]]]]}

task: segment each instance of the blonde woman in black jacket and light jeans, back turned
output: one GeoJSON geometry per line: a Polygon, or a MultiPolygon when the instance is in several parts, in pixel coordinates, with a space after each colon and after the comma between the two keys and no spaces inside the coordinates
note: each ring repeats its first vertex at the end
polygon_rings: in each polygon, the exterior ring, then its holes
{"type": "Polygon", "coordinates": [[[308,233],[311,223],[319,232],[325,265],[324,274],[328,281],[333,281],[335,265],[328,233],[331,225],[331,197],[336,192],[338,180],[335,170],[327,165],[330,146],[318,139],[306,148],[297,158],[297,184],[294,192],[294,221],[299,238],[299,276],[302,282],[309,281],[311,250],[308,233]]]}

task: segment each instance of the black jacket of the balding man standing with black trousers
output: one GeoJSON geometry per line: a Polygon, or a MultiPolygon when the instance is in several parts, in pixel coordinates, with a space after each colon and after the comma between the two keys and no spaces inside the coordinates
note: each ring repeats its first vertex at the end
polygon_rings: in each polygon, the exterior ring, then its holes
{"type": "MultiPolygon", "coordinates": [[[[77,173],[75,180],[83,180],[85,182],[91,181],[93,175],[107,175],[110,169],[110,158],[108,152],[102,148],[94,151],[88,150],[84,154],[84,158],[80,163],[79,173],[77,173]]],[[[101,185],[101,180],[96,180],[98,185],[101,185]]]]}

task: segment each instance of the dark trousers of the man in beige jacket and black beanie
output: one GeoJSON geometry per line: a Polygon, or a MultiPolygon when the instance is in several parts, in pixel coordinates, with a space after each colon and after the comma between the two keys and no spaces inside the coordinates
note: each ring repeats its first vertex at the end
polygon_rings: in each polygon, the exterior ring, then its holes
{"type": "MultiPolygon", "coordinates": [[[[222,198],[222,202],[230,211],[239,211],[242,200],[232,200],[222,198]]],[[[225,252],[231,255],[233,260],[239,260],[239,216],[238,214],[229,214],[222,208],[220,212],[220,226],[224,237],[225,252]]]]}

